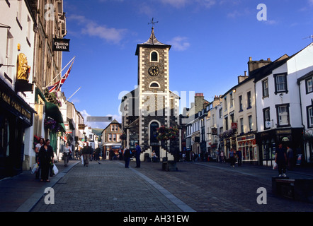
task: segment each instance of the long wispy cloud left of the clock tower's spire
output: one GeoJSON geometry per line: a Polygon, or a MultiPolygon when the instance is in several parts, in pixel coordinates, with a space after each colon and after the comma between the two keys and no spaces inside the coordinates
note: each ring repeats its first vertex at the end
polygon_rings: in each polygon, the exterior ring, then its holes
{"type": "Polygon", "coordinates": [[[69,20],[76,20],[79,25],[82,25],[81,33],[89,36],[100,37],[107,42],[118,44],[127,31],[127,29],[108,28],[106,25],[98,25],[96,22],[85,18],[84,16],[71,15],[69,20]]]}

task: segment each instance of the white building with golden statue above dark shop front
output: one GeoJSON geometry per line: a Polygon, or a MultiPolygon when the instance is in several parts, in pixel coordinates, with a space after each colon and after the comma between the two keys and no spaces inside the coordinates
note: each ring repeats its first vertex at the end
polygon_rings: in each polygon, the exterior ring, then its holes
{"type": "Polygon", "coordinates": [[[0,1],[0,178],[28,167],[33,150],[35,18],[28,1],[0,1]]]}

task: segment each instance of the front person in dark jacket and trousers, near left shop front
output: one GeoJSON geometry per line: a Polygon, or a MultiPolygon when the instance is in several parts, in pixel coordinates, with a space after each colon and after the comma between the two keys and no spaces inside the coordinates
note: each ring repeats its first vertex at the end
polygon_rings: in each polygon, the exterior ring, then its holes
{"type": "Polygon", "coordinates": [[[50,182],[49,180],[49,169],[51,162],[54,163],[53,158],[55,154],[53,153],[53,149],[50,146],[50,140],[47,139],[45,144],[41,146],[39,153],[38,153],[39,161],[40,161],[40,168],[41,168],[41,179],[40,182],[50,182]]]}

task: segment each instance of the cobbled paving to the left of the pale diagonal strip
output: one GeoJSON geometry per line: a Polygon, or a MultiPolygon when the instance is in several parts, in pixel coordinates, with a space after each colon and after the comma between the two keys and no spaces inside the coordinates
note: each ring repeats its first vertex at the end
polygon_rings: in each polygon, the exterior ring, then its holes
{"type": "Polygon", "coordinates": [[[53,187],[55,204],[44,197],[33,212],[170,212],[181,211],[151,184],[118,162],[76,165],[53,187]]]}

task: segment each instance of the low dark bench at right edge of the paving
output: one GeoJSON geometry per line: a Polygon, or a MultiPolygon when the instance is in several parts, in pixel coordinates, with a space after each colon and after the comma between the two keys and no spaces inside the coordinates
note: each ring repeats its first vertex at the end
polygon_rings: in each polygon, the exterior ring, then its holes
{"type": "Polygon", "coordinates": [[[295,201],[313,203],[313,179],[272,177],[273,194],[295,201]]]}

